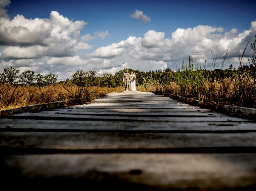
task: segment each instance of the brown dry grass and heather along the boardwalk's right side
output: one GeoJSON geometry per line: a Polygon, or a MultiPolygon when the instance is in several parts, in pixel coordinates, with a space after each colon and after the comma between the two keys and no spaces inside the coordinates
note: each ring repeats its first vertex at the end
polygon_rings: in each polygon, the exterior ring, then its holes
{"type": "Polygon", "coordinates": [[[200,86],[194,86],[187,80],[180,81],[179,84],[171,82],[159,86],[155,85],[154,91],[165,96],[179,95],[198,99],[209,107],[216,104],[227,104],[256,108],[256,79],[246,72],[236,75],[234,78],[225,78],[214,82],[207,80],[200,86]],[[194,90],[195,87],[196,90],[194,90]]]}

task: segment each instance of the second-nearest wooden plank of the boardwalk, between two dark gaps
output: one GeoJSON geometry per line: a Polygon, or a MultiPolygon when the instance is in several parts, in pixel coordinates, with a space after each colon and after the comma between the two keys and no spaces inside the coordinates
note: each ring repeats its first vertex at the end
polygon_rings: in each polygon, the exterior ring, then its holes
{"type": "MultiPolygon", "coordinates": [[[[40,149],[137,149],[256,147],[250,133],[1,132],[0,147],[40,149]]],[[[4,149],[4,148],[2,148],[4,149]]],[[[210,148],[209,148],[210,149],[210,148]]],[[[229,152],[229,148],[226,148],[229,152]]],[[[218,149],[217,149],[218,150],[218,149]]],[[[0,149],[1,151],[1,149],[0,149]]],[[[199,149],[200,151],[200,149],[199,149]]],[[[237,152],[242,152],[237,150],[237,152]]],[[[255,151],[256,152],[256,149],[255,151]]]]}

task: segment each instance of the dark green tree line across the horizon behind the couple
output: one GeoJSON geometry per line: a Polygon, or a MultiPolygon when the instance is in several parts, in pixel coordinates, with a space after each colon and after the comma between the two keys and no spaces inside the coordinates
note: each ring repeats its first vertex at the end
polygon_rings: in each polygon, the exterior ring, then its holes
{"type": "MultiPolygon", "coordinates": [[[[215,69],[211,70],[202,70],[197,69],[195,72],[204,72],[205,77],[209,80],[218,80],[224,79],[227,77],[233,77],[239,73],[246,71],[249,74],[255,75],[256,67],[253,64],[239,66],[238,69],[233,68],[232,64],[229,65],[227,69],[215,69]]],[[[96,71],[89,70],[78,70],[72,75],[72,79],[67,79],[65,83],[72,83],[77,86],[100,86],[100,87],[117,87],[123,85],[123,72],[128,69],[131,72],[133,69],[131,68],[124,68],[124,70],[120,70],[113,74],[100,74],[97,75],[96,71]]],[[[178,75],[186,70],[190,70],[190,68],[182,68],[177,71],[172,71],[169,68],[165,70],[150,70],[150,71],[139,71],[134,70],[136,73],[136,83],[137,85],[143,84],[169,84],[170,82],[175,81],[178,75]]],[[[38,87],[43,87],[49,84],[57,83],[58,76],[56,74],[48,74],[43,76],[42,74],[38,73],[35,74],[34,71],[26,70],[19,74],[19,69],[15,67],[4,68],[4,70],[0,73],[0,83],[1,84],[12,84],[12,85],[34,85],[38,87]]],[[[58,82],[58,83],[63,83],[58,82]]]]}

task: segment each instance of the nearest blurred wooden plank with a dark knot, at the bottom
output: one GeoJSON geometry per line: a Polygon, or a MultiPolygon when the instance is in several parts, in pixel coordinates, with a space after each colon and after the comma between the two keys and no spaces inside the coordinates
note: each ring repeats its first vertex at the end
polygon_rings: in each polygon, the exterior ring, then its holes
{"type": "Polygon", "coordinates": [[[93,190],[247,191],[255,189],[255,158],[244,153],[3,156],[0,174],[2,185],[15,182],[20,188],[52,183],[93,190]]]}

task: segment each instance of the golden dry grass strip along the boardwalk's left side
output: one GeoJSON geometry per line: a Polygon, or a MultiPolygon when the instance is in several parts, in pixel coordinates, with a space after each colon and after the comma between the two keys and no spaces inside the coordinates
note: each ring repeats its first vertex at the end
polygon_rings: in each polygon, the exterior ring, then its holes
{"type": "Polygon", "coordinates": [[[51,84],[43,88],[0,85],[0,110],[69,99],[83,98],[91,101],[105,96],[107,93],[122,92],[123,90],[123,87],[78,87],[64,84],[51,84]]]}

